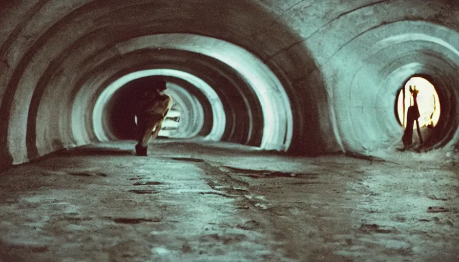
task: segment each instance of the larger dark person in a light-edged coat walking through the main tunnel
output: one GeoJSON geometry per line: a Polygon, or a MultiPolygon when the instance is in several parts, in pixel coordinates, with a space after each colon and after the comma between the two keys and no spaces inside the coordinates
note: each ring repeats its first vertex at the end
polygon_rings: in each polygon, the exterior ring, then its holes
{"type": "Polygon", "coordinates": [[[166,82],[158,80],[152,89],[145,91],[136,110],[138,143],[135,146],[137,156],[147,156],[148,141],[156,139],[161,130],[162,121],[169,112],[172,99],[164,94],[166,82]]]}

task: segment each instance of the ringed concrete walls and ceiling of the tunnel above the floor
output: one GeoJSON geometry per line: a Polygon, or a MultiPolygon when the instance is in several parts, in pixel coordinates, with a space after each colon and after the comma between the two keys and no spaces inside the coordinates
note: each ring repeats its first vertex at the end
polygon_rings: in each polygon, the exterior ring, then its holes
{"type": "Polygon", "coordinates": [[[200,134],[214,130],[208,139],[297,155],[390,148],[403,134],[395,97],[407,79],[423,75],[444,116],[431,147],[458,140],[453,1],[0,5],[2,165],[96,142],[100,132],[110,137],[110,125],[94,120],[110,110],[101,96],[124,75],[148,70],[172,70],[156,72],[194,94],[206,112],[200,134]]]}

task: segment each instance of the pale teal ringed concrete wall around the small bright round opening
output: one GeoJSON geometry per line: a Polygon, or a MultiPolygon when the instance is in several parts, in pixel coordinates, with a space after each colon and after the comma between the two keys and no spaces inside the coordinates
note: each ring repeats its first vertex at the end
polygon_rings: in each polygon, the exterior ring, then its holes
{"type": "Polygon", "coordinates": [[[337,140],[342,141],[343,151],[372,154],[381,149],[393,150],[400,144],[403,129],[393,115],[393,101],[400,87],[413,75],[435,76],[428,78],[437,83],[434,85],[441,103],[448,106],[444,112],[448,117],[444,119],[448,119],[450,126],[441,121],[434,133],[442,134],[442,139],[429,141],[428,147],[451,148],[457,137],[454,118],[455,104],[459,101],[454,87],[457,83],[454,72],[459,67],[459,45],[454,38],[457,34],[424,21],[395,21],[365,31],[331,58],[337,63],[341,60],[355,65],[340,70],[338,77],[342,81],[334,89],[337,140]],[[442,77],[454,79],[448,86],[438,83],[442,77]],[[446,101],[445,94],[450,101],[446,101]]]}

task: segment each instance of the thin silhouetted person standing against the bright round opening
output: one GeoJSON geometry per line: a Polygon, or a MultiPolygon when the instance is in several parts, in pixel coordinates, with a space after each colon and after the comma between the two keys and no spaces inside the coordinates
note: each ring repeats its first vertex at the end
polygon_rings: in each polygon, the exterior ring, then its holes
{"type": "Polygon", "coordinates": [[[419,90],[416,90],[415,85],[414,87],[410,85],[410,93],[411,93],[411,96],[413,97],[413,105],[410,105],[408,107],[408,112],[406,114],[407,115],[406,116],[406,128],[405,128],[405,132],[403,133],[403,137],[402,137],[404,149],[411,147],[413,143],[414,122],[416,122],[416,127],[418,129],[420,146],[423,144],[421,129],[419,126],[419,118],[421,117],[421,114],[419,113],[418,100],[417,100],[419,90]]]}

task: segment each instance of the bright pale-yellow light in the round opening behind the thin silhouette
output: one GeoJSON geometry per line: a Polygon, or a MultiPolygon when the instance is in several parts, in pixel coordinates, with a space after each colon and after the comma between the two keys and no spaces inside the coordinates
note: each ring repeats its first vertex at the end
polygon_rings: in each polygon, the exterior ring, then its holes
{"type": "MultiPolygon", "coordinates": [[[[403,127],[406,127],[406,115],[408,107],[413,103],[410,94],[409,86],[416,86],[419,90],[418,106],[421,117],[419,118],[419,125],[436,126],[440,119],[440,99],[432,83],[422,77],[412,77],[405,85],[405,112],[403,111],[403,92],[400,91],[398,98],[398,115],[403,127]],[[403,117],[405,115],[405,118],[403,117]]],[[[414,125],[413,129],[416,128],[414,125]]]]}

